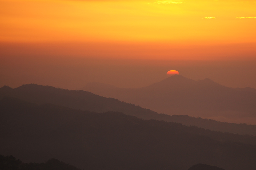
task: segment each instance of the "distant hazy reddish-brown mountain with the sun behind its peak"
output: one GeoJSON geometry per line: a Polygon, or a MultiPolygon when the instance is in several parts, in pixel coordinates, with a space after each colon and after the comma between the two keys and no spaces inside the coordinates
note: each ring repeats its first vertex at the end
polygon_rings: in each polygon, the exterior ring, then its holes
{"type": "Polygon", "coordinates": [[[142,88],[117,88],[88,83],[83,90],[133,103],[158,113],[189,115],[232,122],[256,121],[256,89],[229,88],[210,79],[191,80],[173,75],[142,88]],[[247,119],[246,119],[247,118],[247,119]]]}

